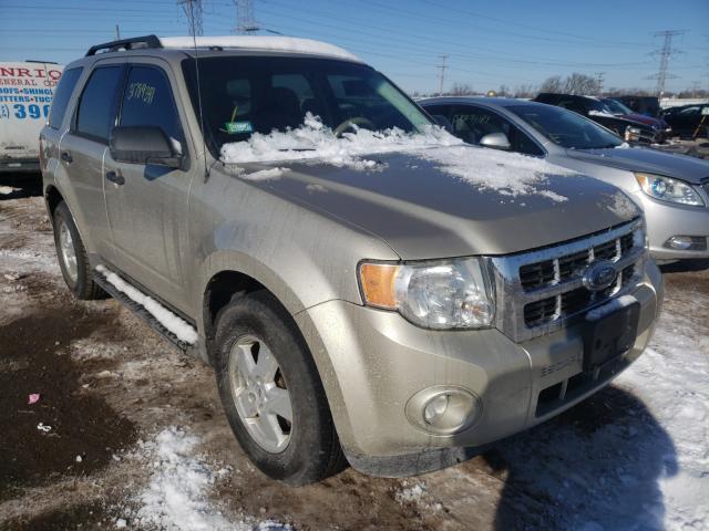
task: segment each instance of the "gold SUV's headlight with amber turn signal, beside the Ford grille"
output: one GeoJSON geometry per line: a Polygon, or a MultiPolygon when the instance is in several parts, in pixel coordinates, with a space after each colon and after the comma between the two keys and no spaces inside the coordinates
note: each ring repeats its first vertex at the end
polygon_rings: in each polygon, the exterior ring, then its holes
{"type": "Polygon", "coordinates": [[[364,303],[394,310],[425,329],[481,329],[495,314],[490,283],[477,258],[376,263],[362,262],[364,303]]]}

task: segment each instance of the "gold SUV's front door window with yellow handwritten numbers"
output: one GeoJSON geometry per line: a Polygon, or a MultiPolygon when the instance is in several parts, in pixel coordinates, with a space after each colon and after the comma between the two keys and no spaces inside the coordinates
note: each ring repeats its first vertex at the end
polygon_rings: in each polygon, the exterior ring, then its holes
{"type": "Polygon", "coordinates": [[[172,139],[184,139],[179,115],[165,73],[153,66],[133,66],[121,105],[121,125],[154,125],[172,139]]]}

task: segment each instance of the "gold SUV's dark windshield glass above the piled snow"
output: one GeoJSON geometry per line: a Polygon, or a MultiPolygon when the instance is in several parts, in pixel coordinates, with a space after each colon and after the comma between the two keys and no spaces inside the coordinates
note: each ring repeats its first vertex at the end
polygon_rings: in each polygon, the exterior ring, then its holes
{"type": "MultiPolygon", "coordinates": [[[[183,61],[198,110],[195,61],[183,61]]],[[[336,134],[354,127],[421,132],[430,118],[387,77],[358,63],[282,56],[199,59],[206,139],[214,154],[254,133],[285,132],[319,116],[336,134]]],[[[195,112],[195,114],[198,114],[195,112]]]]}

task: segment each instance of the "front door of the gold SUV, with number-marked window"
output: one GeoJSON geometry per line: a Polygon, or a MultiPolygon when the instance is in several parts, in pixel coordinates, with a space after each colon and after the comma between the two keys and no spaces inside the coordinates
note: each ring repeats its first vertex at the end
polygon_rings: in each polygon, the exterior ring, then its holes
{"type": "MultiPolygon", "coordinates": [[[[188,156],[183,110],[173,95],[166,63],[145,59],[127,66],[119,125],[158,126],[188,156]]],[[[188,254],[187,198],[191,174],[105,157],[105,200],[114,262],[177,309],[186,308],[183,257],[188,254]],[[117,178],[116,178],[117,177],[117,178]],[[119,184],[119,183],[121,184],[119,184]]]]}

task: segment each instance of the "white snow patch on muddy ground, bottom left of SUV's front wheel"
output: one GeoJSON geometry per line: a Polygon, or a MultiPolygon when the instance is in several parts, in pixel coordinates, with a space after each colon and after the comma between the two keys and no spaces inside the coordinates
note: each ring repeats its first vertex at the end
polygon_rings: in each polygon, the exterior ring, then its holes
{"type": "Polygon", "coordinates": [[[196,455],[199,439],[177,427],[161,431],[144,442],[141,452],[152,461],[154,472],[147,487],[135,497],[138,509],[123,518],[132,529],[169,531],[290,530],[273,521],[251,518],[233,522],[209,501],[209,491],[224,469],[214,470],[196,455]]]}

